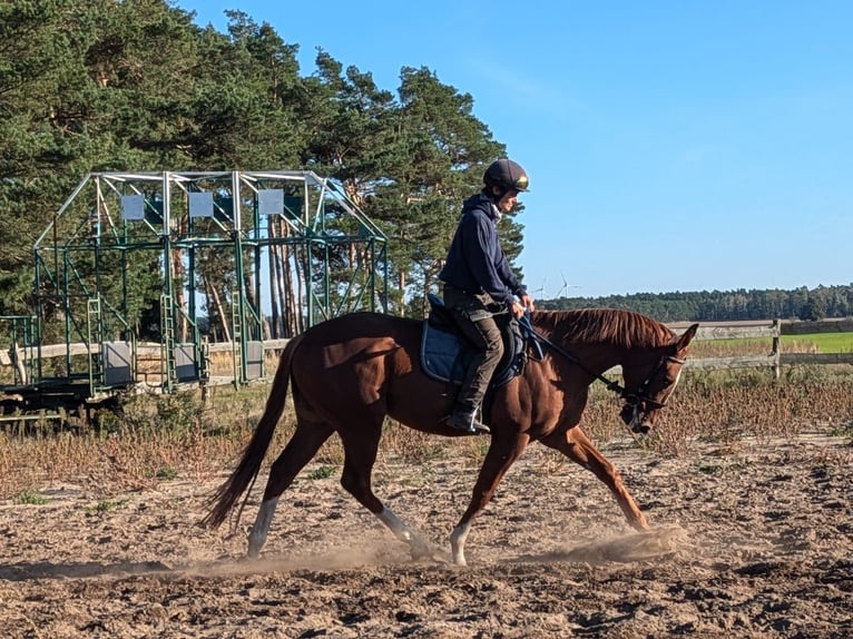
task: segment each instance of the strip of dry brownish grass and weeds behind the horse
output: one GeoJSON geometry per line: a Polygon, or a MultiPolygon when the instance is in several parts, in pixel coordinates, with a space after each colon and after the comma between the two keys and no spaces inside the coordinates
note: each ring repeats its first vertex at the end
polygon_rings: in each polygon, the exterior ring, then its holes
{"type": "MultiPolygon", "coordinates": [[[[658,427],[641,445],[664,455],[690,454],[708,442],[734,452],[746,440],[791,439],[803,431],[841,434],[853,443],[851,389],[853,373],[843,367],[791,368],[776,382],[764,371],[695,372],[685,376],[658,427]]],[[[219,386],[207,404],[198,393],[139,395],[128,399],[119,414],[106,415],[99,431],[84,433],[7,426],[0,431],[0,498],[75,483],[106,499],[178,476],[203,481],[220,474],[251,436],[267,391],[262,384],[241,391],[219,386]]],[[[592,387],[582,426],[599,445],[626,436],[619,406],[601,385],[592,387]]],[[[286,413],[269,458],[292,432],[292,416],[286,413]]],[[[488,438],[437,438],[389,423],[378,469],[390,462],[434,460],[474,469],[488,443],[488,438]]],[[[342,461],[336,438],[314,459],[333,466],[335,474],[342,461]]],[[[553,463],[565,462],[556,458],[553,463]]]]}

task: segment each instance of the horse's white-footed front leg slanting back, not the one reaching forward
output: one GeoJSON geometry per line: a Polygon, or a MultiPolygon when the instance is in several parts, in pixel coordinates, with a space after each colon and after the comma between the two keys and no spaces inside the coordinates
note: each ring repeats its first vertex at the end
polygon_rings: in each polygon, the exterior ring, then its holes
{"type": "Polygon", "coordinates": [[[496,433],[492,436],[489,452],[486,453],[483,465],[480,468],[480,474],[474,484],[471,503],[450,535],[453,563],[458,566],[467,564],[465,539],[468,539],[468,533],[471,531],[471,522],[494,497],[494,491],[501,479],[503,479],[503,475],[507,474],[507,471],[516,460],[521,456],[528,442],[529,438],[526,434],[501,438],[500,434],[496,433]]]}

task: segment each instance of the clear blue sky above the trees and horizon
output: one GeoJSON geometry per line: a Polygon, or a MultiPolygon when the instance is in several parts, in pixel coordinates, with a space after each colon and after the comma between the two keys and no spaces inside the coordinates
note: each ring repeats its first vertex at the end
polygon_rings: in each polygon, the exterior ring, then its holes
{"type": "Polygon", "coordinates": [[[174,3],[268,22],[304,76],[320,47],[471,94],[530,175],[535,297],[853,283],[853,2],[174,3]]]}

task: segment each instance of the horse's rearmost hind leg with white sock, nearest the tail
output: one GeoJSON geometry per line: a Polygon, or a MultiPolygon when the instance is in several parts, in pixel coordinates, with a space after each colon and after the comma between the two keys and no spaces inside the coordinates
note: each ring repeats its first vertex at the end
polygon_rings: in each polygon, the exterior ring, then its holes
{"type": "Polygon", "coordinates": [[[255,525],[248,533],[248,556],[257,557],[266,542],[269,523],[278,505],[278,498],[293,483],[298,472],[305,468],[317,451],[334,432],[334,429],[322,422],[297,422],[296,431],[291,441],[284,446],[282,454],[269,469],[269,479],[264,489],[264,499],[257,511],[255,525]]]}

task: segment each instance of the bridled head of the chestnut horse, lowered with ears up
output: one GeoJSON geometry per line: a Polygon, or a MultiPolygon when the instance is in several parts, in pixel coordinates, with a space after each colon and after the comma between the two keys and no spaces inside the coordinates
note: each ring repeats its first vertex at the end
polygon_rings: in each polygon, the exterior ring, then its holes
{"type": "Polygon", "coordinates": [[[650,357],[622,363],[625,405],[620,416],[635,433],[648,433],[660,409],[666,406],[678,385],[688,346],[698,327],[694,324],[687,328],[663,352],[657,350],[650,357]]]}

